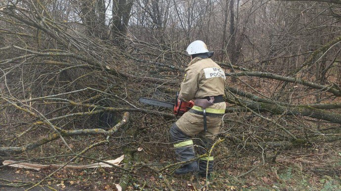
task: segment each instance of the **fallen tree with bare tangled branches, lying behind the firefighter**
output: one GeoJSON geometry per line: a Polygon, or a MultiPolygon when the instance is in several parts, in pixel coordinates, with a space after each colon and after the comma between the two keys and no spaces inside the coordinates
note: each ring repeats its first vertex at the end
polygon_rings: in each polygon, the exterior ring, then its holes
{"type": "MultiPolygon", "coordinates": [[[[28,118],[30,119],[28,124],[25,125],[28,126],[26,130],[4,137],[3,140],[7,142],[18,140],[26,133],[41,126],[50,128],[53,133],[49,134],[47,138],[26,146],[1,147],[1,152],[24,152],[58,138],[67,145],[63,137],[68,136],[113,135],[118,129],[117,125],[112,126],[115,130],[93,127],[86,127],[92,129],[84,129],[85,127],[78,127],[79,129],[74,130],[64,129],[68,126],[69,122],[67,121],[79,118],[92,119],[91,116],[98,116],[107,112],[115,115],[127,111],[141,112],[173,119],[171,114],[143,109],[143,105],[137,103],[136,100],[139,95],[148,94],[170,98],[169,94],[174,94],[178,90],[177,85],[180,81],[176,76],[183,75],[184,66],[148,61],[145,58],[138,58],[135,54],[123,53],[111,44],[91,39],[67,24],[59,23],[47,13],[36,14],[36,12],[45,10],[45,7],[42,4],[31,6],[32,3],[21,5],[9,3],[1,8],[3,15],[1,22],[6,26],[20,26],[21,29],[19,31],[2,30],[0,33],[6,35],[8,39],[14,39],[15,36],[27,38],[25,46],[21,42],[15,43],[9,40],[6,45],[0,47],[2,58],[5,58],[0,61],[3,71],[0,78],[5,82],[4,86],[1,87],[1,107],[4,112],[12,113],[11,115],[14,116],[20,116],[24,113],[31,116],[28,118]],[[15,22],[10,19],[14,19],[15,22]],[[37,35],[25,33],[28,31],[37,35]],[[52,42],[42,44],[41,41],[45,39],[50,39],[52,42]],[[15,54],[11,55],[9,52],[15,54]],[[138,66],[142,63],[144,69],[138,66]],[[20,70],[32,73],[33,76],[21,74],[20,78],[15,79],[20,70]],[[171,75],[161,78],[154,75],[155,72],[161,74],[170,72],[171,75]],[[18,80],[28,83],[28,89],[21,90],[21,87],[16,86],[18,80]],[[146,83],[146,86],[137,85],[138,89],[131,89],[131,87],[136,86],[134,82],[136,80],[142,84],[146,83]],[[156,86],[156,89],[160,90],[152,92],[156,86]],[[38,88],[44,87],[50,87],[50,92],[42,94],[41,91],[38,91],[38,88]],[[120,90],[124,89],[126,90],[125,96],[128,96],[129,100],[122,98],[124,95],[120,90]],[[141,92],[136,94],[139,90],[141,92]],[[112,103],[113,100],[114,103],[112,103]],[[122,107],[123,104],[128,107],[122,107]],[[67,112],[64,112],[65,110],[67,112]],[[57,126],[55,124],[63,125],[57,126]]],[[[323,50],[327,50],[339,41],[340,37],[333,39],[326,43],[323,50]]],[[[143,42],[140,41],[139,43],[142,44],[143,42]]],[[[134,47],[134,44],[128,44],[128,46],[134,47]]],[[[143,46],[152,45],[146,43],[143,46]]],[[[321,51],[319,50],[317,53],[321,51]]],[[[313,54],[317,53],[314,52],[313,54]]],[[[302,65],[308,65],[313,59],[313,56],[308,57],[309,61],[307,60],[302,65]]],[[[322,85],[302,78],[252,71],[232,64],[219,64],[223,68],[234,70],[234,72],[227,72],[228,76],[272,79],[280,83],[300,85],[300,89],[306,87],[306,91],[312,92],[313,95],[341,96],[340,87],[333,82],[330,85],[322,85]],[[239,72],[239,70],[241,71],[239,72]]],[[[245,79],[241,78],[240,80],[245,79]]],[[[270,113],[274,116],[309,117],[324,122],[341,124],[341,115],[338,112],[328,111],[331,109],[338,110],[340,103],[294,104],[274,100],[263,95],[261,97],[256,96],[230,86],[227,86],[226,90],[226,101],[232,104],[226,109],[226,113],[253,111],[259,116],[262,116],[263,113],[270,113]]],[[[127,120],[125,118],[127,117],[124,117],[124,121],[127,120]]],[[[264,117],[263,119],[270,118],[264,117]]],[[[297,139],[290,130],[280,124],[276,126],[281,127],[290,137],[297,139]]],[[[20,128],[20,125],[15,127],[20,128]]]]}

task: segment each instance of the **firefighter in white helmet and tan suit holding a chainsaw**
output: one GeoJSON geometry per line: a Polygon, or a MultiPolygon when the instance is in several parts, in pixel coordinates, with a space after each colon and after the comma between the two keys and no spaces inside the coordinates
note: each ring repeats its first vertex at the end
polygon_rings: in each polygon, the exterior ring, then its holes
{"type": "MultiPolygon", "coordinates": [[[[178,161],[195,158],[195,150],[199,155],[209,152],[226,108],[222,97],[226,77],[221,67],[211,59],[213,52],[210,52],[201,40],[190,43],[186,51],[191,56],[191,62],[180,85],[179,99],[186,102],[194,100],[195,105],[184,113],[170,130],[178,161]]],[[[187,162],[176,169],[174,174],[196,171],[199,176],[210,178],[213,171],[213,156],[187,162]]]]}

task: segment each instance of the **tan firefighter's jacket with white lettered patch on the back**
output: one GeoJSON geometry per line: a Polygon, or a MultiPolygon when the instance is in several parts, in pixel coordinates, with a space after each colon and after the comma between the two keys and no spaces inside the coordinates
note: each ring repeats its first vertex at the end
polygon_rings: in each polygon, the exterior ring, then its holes
{"type": "Polygon", "coordinates": [[[224,95],[225,73],[212,59],[194,58],[186,68],[180,98],[189,101],[206,96],[224,95]]]}

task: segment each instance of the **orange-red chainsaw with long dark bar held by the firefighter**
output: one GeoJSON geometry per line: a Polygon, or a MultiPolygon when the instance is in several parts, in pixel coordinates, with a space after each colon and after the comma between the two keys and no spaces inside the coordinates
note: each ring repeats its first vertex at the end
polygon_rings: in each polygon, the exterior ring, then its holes
{"type": "Polygon", "coordinates": [[[179,97],[179,94],[176,93],[175,103],[170,103],[170,102],[146,98],[146,97],[140,97],[139,101],[141,103],[145,103],[149,105],[173,108],[173,114],[175,115],[175,117],[177,117],[177,116],[182,116],[184,113],[186,113],[188,110],[190,110],[194,106],[194,101],[190,100],[186,102],[186,101],[179,100],[178,97],[179,97]]]}

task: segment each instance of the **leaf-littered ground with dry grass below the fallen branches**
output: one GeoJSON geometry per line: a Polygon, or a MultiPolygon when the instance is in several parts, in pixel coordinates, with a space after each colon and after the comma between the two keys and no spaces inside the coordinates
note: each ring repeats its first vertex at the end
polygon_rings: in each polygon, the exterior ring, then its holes
{"type": "MultiPolygon", "coordinates": [[[[142,146],[145,148],[143,150],[145,152],[135,153],[136,159],[143,160],[149,166],[156,166],[159,169],[174,162],[168,157],[172,153],[166,149],[166,146],[165,148],[152,147],[148,146],[147,143],[145,144],[142,146]]],[[[195,175],[175,177],[167,174],[168,170],[163,173],[164,179],[162,179],[146,165],[135,164],[137,165],[134,168],[135,170],[129,173],[131,180],[128,182],[126,190],[341,191],[340,146],[340,141],[336,141],[294,147],[291,150],[283,151],[276,161],[263,161],[262,158],[257,158],[257,155],[250,155],[251,152],[231,152],[228,154],[227,147],[222,145],[217,148],[214,172],[209,182],[195,175]],[[244,173],[246,174],[239,177],[244,173]]],[[[103,146],[101,149],[97,148],[97,150],[90,152],[104,155],[110,153],[110,151],[109,149],[105,150],[103,146]]],[[[115,153],[112,158],[115,159],[116,156],[121,154],[115,153]]],[[[91,153],[88,155],[91,155],[91,153]]],[[[14,157],[8,159],[14,159],[14,157]]],[[[17,160],[17,158],[15,159],[17,160]]],[[[94,162],[84,160],[80,162],[84,164],[94,162]]],[[[67,160],[64,159],[65,161],[67,160]]],[[[53,163],[53,161],[32,162],[53,163]]],[[[12,184],[23,182],[28,184],[19,188],[0,186],[0,191],[24,191],[52,172],[54,172],[54,169],[35,171],[2,167],[0,168],[0,185],[5,184],[4,180],[11,181],[12,184]]],[[[42,183],[43,187],[36,187],[32,191],[51,191],[48,187],[57,191],[116,191],[116,185],[122,184],[120,180],[125,175],[127,173],[116,168],[62,169],[51,178],[47,178],[42,183]]]]}

